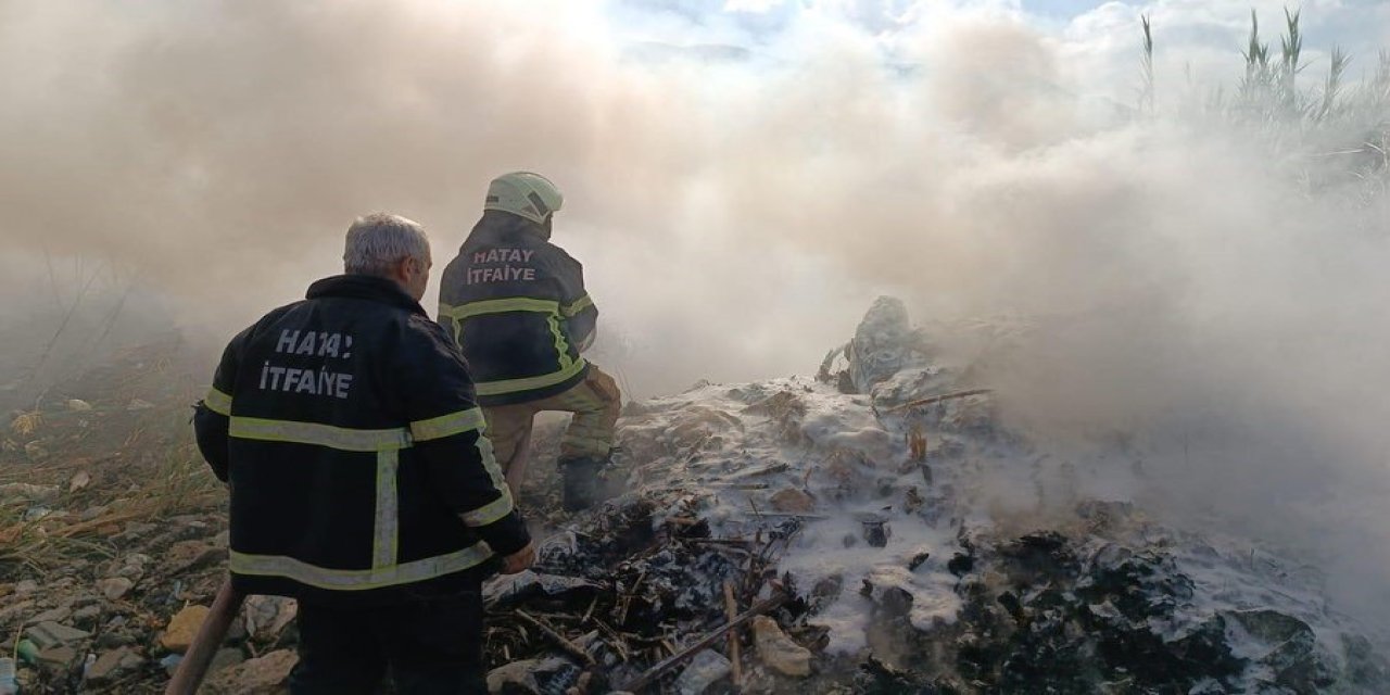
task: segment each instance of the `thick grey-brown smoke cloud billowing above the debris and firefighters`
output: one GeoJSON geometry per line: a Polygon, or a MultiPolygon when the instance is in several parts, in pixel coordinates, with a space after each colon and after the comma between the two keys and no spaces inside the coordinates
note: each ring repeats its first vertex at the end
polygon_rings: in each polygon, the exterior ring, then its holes
{"type": "Polygon", "coordinates": [[[0,234],[31,268],[0,291],[103,259],[221,341],[335,272],[354,215],[424,222],[439,267],[486,181],[535,170],[637,393],[810,370],[880,292],[1023,314],[986,375],[1013,421],[1143,432],[1169,509],[1316,534],[1387,585],[1359,514],[1387,486],[1386,195],[1133,118],[1086,82],[1112,68],[924,6],[891,40],[827,10],[749,53],[634,50],[589,3],[0,1],[0,234]]]}

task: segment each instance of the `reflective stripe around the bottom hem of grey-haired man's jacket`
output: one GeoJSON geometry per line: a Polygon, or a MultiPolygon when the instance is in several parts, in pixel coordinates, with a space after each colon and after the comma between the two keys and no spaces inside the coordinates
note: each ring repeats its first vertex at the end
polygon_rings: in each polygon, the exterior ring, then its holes
{"type": "Polygon", "coordinates": [[[452,553],[370,570],[329,570],[284,555],[231,552],[231,570],[256,577],[285,577],[300,584],[334,591],[366,591],[432,580],[467,570],[492,556],[488,543],[478,542],[452,553]]]}

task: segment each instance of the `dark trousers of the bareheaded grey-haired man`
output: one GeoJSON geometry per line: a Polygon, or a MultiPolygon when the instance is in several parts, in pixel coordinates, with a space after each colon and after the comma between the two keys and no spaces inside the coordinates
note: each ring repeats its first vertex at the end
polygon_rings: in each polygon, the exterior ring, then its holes
{"type": "Polygon", "coordinates": [[[477,592],[366,609],[302,602],[297,621],[295,695],[370,695],[388,667],[402,695],[488,692],[477,592]]]}

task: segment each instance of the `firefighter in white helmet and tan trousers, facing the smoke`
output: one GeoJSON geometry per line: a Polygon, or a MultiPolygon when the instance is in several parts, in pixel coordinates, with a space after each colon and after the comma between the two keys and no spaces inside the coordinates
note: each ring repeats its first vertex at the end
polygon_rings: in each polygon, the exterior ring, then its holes
{"type": "Polygon", "coordinates": [[[621,393],[580,356],[594,342],[599,310],[584,289],[584,267],[550,243],[562,203],[538,174],[493,179],[482,220],[443,270],[439,322],[478,379],[488,434],[513,486],[524,474],[535,414],[574,413],[557,461],[573,512],[598,500],[621,393]]]}

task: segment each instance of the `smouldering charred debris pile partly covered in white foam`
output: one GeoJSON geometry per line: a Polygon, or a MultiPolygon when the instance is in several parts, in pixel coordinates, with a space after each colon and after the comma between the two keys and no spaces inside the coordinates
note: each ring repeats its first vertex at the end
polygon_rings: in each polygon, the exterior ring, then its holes
{"type": "Polygon", "coordinates": [[[539,603],[493,603],[493,645],[548,678],[509,687],[563,692],[587,673],[663,692],[1390,687],[1383,644],[1329,606],[1318,569],[1081,495],[1077,480],[1108,473],[1052,466],[933,354],[881,299],[817,379],[630,406],[631,492],[549,539],[523,582],[539,603]],[[1029,505],[999,509],[1001,486],[1029,505]],[[737,652],[701,641],[767,599],[785,603],[738,630],[737,652]],[[678,656],[688,666],[638,680],[678,656]]]}

